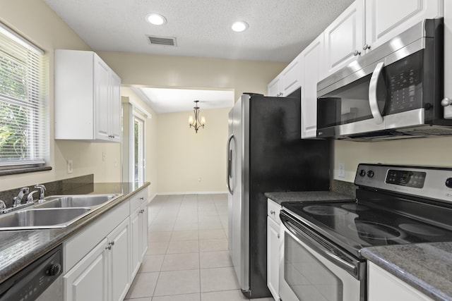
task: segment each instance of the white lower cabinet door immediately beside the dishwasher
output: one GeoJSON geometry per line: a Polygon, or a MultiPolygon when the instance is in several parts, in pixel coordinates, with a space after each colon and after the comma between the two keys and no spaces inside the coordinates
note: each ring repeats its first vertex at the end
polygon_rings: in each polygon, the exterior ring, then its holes
{"type": "Polygon", "coordinates": [[[107,301],[107,238],[63,276],[66,301],[107,301]]]}

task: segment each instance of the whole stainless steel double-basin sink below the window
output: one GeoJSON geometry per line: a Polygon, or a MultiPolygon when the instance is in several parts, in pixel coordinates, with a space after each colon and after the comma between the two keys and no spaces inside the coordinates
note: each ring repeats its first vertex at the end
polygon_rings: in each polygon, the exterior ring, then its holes
{"type": "Polygon", "coordinates": [[[0,231],[64,228],[121,195],[60,195],[0,215],[0,231]]]}

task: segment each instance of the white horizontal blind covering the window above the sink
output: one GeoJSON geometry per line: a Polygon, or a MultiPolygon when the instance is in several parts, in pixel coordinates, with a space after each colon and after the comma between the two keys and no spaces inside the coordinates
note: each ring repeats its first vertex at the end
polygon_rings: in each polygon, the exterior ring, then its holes
{"type": "Polygon", "coordinates": [[[43,54],[0,23],[0,167],[45,164],[43,54]]]}

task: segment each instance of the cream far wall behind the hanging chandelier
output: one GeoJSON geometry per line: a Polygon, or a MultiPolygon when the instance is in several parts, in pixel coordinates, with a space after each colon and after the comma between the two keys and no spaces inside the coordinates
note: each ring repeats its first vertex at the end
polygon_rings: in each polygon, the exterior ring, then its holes
{"type": "Polygon", "coordinates": [[[157,116],[157,191],[226,192],[228,109],[201,108],[206,125],[189,127],[193,111],[157,116]]]}

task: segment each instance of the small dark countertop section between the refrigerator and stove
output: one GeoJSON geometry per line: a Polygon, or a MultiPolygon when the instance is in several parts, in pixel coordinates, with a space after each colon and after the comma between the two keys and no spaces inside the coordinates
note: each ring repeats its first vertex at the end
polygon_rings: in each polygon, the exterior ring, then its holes
{"type": "Polygon", "coordinates": [[[282,202],[339,201],[352,199],[349,195],[343,195],[333,191],[266,192],[264,195],[278,204],[282,202]]]}

